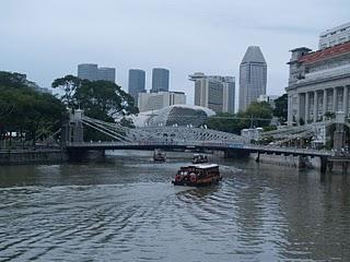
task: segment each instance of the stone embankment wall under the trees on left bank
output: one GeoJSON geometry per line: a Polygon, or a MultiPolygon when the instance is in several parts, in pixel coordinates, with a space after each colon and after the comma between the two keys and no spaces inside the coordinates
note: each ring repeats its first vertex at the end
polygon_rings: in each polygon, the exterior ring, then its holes
{"type": "Polygon", "coordinates": [[[55,164],[68,160],[61,150],[0,151],[0,165],[55,164]]]}

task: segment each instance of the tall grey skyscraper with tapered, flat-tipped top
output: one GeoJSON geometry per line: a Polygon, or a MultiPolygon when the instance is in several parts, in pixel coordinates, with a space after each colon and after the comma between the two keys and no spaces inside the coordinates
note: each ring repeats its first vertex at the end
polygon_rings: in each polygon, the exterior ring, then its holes
{"type": "Polygon", "coordinates": [[[267,66],[258,46],[249,46],[240,66],[240,110],[266,95],[267,66]]]}

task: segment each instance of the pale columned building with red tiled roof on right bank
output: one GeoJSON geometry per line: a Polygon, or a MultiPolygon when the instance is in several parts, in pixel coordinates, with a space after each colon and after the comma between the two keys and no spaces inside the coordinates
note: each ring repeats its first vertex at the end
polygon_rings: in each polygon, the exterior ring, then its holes
{"type": "MultiPolygon", "coordinates": [[[[329,32],[336,36],[338,29],[329,32]]],[[[350,41],[317,51],[300,47],[291,52],[285,88],[288,123],[317,122],[326,120],[328,112],[339,111],[349,118],[350,41]]]]}

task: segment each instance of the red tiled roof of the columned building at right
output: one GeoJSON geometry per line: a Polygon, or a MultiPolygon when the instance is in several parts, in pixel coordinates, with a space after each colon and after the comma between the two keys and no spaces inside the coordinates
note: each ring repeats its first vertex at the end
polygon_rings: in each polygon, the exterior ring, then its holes
{"type": "Polygon", "coordinates": [[[302,56],[299,61],[304,63],[318,62],[325,59],[329,59],[341,53],[350,52],[350,41],[322,49],[318,51],[310,52],[305,56],[302,56]]]}

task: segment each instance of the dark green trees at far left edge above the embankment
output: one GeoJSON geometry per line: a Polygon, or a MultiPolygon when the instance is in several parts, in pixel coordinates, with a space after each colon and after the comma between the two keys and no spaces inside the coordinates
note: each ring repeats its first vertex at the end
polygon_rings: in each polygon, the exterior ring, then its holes
{"type": "Polygon", "coordinates": [[[35,143],[37,134],[46,135],[59,128],[63,104],[50,94],[36,92],[35,83],[19,73],[0,72],[0,133],[25,134],[35,143]]]}

